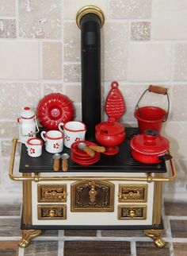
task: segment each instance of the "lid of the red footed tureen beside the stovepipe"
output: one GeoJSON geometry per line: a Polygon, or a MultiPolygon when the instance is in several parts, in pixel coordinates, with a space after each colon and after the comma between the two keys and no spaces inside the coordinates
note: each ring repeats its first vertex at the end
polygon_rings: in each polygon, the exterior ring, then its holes
{"type": "Polygon", "coordinates": [[[124,126],[122,126],[120,122],[115,122],[115,118],[109,118],[108,121],[97,124],[95,129],[96,132],[110,135],[121,134],[124,132],[124,126]]]}

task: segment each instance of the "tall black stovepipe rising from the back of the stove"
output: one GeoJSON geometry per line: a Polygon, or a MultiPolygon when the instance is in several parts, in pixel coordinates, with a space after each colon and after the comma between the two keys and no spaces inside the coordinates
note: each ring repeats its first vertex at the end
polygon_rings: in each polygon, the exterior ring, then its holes
{"type": "Polygon", "coordinates": [[[80,20],[82,64],[82,122],[86,140],[94,140],[95,126],[101,122],[101,19],[85,14],[80,20]]]}

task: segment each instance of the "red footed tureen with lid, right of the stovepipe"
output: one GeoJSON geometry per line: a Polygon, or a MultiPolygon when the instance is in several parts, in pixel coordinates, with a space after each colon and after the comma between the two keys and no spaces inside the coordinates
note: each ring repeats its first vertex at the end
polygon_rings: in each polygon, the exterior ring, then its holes
{"type": "Polygon", "coordinates": [[[95,127],[95,138],[97,142],[105,146],[106,155],[115,155],[119,152],[117,145],[124,142],[124,126],[120,122],[115,122],[114,118],[109,118],[107,122],[101,122],[95,127]]]}

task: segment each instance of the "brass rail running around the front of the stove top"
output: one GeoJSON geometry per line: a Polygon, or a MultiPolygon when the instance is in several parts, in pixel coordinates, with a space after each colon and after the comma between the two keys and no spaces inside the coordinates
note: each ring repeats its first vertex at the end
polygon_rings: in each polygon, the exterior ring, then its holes
{"type": "Polygon", "coordinates": [[[31,180],[31,181],[52,181],[52,180],[119,180],[119,181],[147,181],[148,183],[151,182],[170,182],[175,180],[176,178],[176,169],[174,165],[174,160],[170,160],[171,170],[172,170],[172,176],[170,177],[154,177],[151,176],[151,173],[147,173],[147,176],[145,177],[139,177],[139,176],[40,176],[40,171],[38,173],[34,173],[33,176],[14,176],[13,175],[13,164],[15,159],[15,153],[16,153],[16,147],[17,147],[17,138],[13,138],[13,145],[12,145],[12,151],[10,156],[10,170],[9,170],[9,176],[11,180],[15,181],[24,181],[24,180],[31,180]]]}

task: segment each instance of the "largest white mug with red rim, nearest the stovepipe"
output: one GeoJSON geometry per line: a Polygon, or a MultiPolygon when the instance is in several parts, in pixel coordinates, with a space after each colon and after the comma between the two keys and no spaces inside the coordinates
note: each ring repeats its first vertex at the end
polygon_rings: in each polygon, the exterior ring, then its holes
{"type": "Polygon", "coordinates": [[[71,144],[78,141],[85,140],[86,125],[83,122],[70,121],[60,122],[59,130],[64,134],[64,145],[67,148],[71,148],[71,144]],[[61,128],[63,126],[63,129],[61,128]]]}

